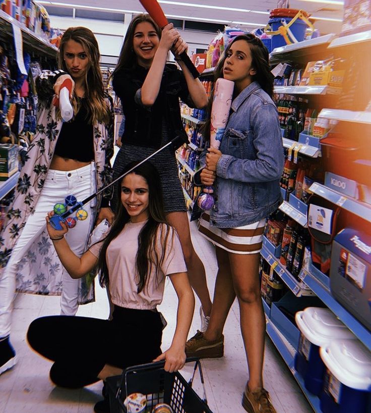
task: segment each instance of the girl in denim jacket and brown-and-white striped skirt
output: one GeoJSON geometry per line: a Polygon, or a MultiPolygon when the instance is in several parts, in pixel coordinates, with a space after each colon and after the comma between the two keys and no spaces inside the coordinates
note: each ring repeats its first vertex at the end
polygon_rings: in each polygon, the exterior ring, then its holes
{"type": "MultiPolygon", "coordinates": [[[[215,205],[210,214],[202,215],[200,231],[216,247],[218,273],[209,326],[188,341],[186,353],[223,356],[223,327],[237,297],[249,366],[242,405],[250,413],[274,413],[263,388],[265,318],[259,252],[265,220],[281,202],[283,146],[268,51],[252,34],[237,36],[215,74],[216,79],[234,81],[233,101],[220,150],[208,149],[197,178],[203,185],[214,185],[215,205]]],[[[209,124],[205,130],[210,130],[209,124]]]]}

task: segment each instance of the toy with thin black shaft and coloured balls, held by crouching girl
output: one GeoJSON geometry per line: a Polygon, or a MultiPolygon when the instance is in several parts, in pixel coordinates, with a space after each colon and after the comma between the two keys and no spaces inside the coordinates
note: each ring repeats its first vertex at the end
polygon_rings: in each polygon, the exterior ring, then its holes
{"type": "Polygon", "coordinates": [[[184,142],[188,141],[187,135],[184,136],[183,133],[179,131],[177,136],[170,140],[170,142],[166,143],[166,145],[161,146],[159,149],[157,149],[154,153],[152,153],[150,156],[145,158],[143,161],[138,162],[137,165],[135,165],[133,168],[131,168],[129,171],[123,173],[120,175],[118,178],[110,182],[108,185],[104,186],[103,188],[99,189],[97,192],[93,193],[92,195],[89,195],[87,198],[82,200],[81,202],[78,202],[76,197],[74,195],[68,195],[65,198],[65,203],[58,202],[54,205],[53,211],[54,214],[50,220],[49,223],[50,225],[56,229],[56,230],[61,230],[63,229],[62,226],[60,225],[60,221],[64,222],[69,228],[74,228],[77,221],[84,221],[88,218],[88,213],[86,210],[84,210],[83,206],[91,201],[95,196],[99,195],[101,192],[103,192],[105,189],[113,185],[115,182],[119,181],[122,179],[125,175],[130,174],[137,168],[139,165],[144,164],[146,161],[149,159],[153,158],[157,153],[161,152],[168,146],[173,146],[173,148],[178,148],[184,142]],[[70,207],[70,208],[69,208],[70,207]],[[69,209],[68,209],[69,208],[69,209]],[[71,215],[76,212],[75,218],[71,217],[71,215]]]}

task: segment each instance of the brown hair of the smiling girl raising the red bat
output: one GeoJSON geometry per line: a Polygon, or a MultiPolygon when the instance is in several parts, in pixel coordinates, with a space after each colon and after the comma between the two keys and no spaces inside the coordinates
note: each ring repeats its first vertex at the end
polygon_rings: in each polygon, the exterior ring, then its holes
{"type": "Polygon", "coordinates": [[[161,29],[149,14],[142,13],[134,17],[134,19],[129,24],[128,31],[126,32],[125,39],[123,40],[118,62],[112,73],[112,76],[114,76],[114,74],[120,69],[134,69],[137,65],[137,55],[135,54],[135,51],[133,49],[134,33],[138,24],[143,22],[152,24],[158,38],[161,38],[161,29]]]}

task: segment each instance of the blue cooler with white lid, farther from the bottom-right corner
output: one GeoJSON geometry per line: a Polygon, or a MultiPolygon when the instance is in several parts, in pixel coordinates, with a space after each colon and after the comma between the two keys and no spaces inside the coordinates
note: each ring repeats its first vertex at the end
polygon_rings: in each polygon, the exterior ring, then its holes
{"type": "Polygon", "coordinates": [[[295,322],[300,330],[295,370],[303,378],[305,388],[319,395],[326,370],[320,347],[335,338],[354,340],[355,336],[328,308],[307,307],[296,313],[295,322]]]}

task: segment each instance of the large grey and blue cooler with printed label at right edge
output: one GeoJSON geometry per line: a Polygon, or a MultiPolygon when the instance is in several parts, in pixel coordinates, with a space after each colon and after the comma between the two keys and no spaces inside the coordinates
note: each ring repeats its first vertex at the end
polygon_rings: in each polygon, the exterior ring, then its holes
{"type": "Polygon", "coordinates": [[[332,295],[371,330],[371,237],[345,228],[334,238],[331,253],[332,295]]]}

